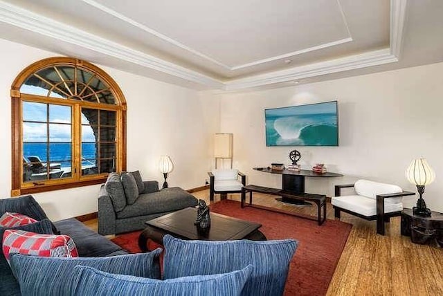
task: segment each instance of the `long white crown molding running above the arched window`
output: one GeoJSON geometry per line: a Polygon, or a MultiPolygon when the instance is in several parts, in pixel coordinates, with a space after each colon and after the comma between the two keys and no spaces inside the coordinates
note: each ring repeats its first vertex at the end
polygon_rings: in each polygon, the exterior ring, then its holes
{"type": "Polygon", "coordinates": [[[81,46],[90,50],[122,59],[156,71],[161,71],[198,84],[203,84],[213,88],[223,88],[224,84],[208,75],[189,70],[163,59],[147,55],[138,50],[123,46],[114,41],[98,37],[78,28],[68,26],[59,21],[55,21],[34,12],[13,6],[0,1],[0,21],[6,24],[17,26],[39,35],[51,37],[60,41],[81,46]]]}

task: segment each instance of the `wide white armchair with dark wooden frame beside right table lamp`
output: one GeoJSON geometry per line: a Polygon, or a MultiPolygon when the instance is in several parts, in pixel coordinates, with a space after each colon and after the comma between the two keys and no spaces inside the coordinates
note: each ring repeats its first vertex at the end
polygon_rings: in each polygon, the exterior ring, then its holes
{"type": "Polygon", "coordinates": [[[377,233],[385,234],[385,222],[393,216],[400,216],[403,210],[403,196],[415,195],[403,191],[397,185],[359,180],[354,184],[336,185],[335,196],[331,198],[336,219],[346,212],[365,220],[377,220],[377,233]],[[341,196],[341,189],[354,187],[353,195],[341,196]]]}

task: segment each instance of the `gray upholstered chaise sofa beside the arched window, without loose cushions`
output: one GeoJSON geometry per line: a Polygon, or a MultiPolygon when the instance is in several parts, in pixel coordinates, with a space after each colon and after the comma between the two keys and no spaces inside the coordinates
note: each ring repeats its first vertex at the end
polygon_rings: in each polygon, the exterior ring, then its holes
{"type": "Polygon", "coordinates": [[[145,221],[186,207],[195,207],[198,202],[195,196],[180,187],[159,190],[157,181],[140,179],[143,191],[136,196],[135,201],[129,203],[126,196],[128,190],[125,190],[127,188],[123,184],[118,184],[119,181],[116,173],[109,174],[107,183],[100,187],[98,233],[102,235],[143,230],[145,221]],[[123,189],[120,189],[120,186],[123,189]]]}

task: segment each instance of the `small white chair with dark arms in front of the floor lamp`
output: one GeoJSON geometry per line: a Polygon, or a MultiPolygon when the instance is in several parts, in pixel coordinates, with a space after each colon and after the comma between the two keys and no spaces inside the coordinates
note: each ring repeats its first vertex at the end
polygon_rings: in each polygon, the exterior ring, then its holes
{"type": "Polygon", "coordinates": [[[210,178],[209,200],[214,201],[214,194],[221,194],[221,199],[228,193],[242,193],[246,185],[246,175],[238,169],[214,169],[208,172],[210,178]],[[239,177],[241,181],[239,181],[239,177]]]}

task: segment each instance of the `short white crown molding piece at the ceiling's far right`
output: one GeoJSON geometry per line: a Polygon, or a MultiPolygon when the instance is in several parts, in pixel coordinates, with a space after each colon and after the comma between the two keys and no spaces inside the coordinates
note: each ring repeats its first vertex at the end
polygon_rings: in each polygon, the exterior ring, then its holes
{"type": "Polygon", "coordinates": [[[406,24],[408,0],[390,1],[390,53],[397,58],[401,55],[406,24]]]}

